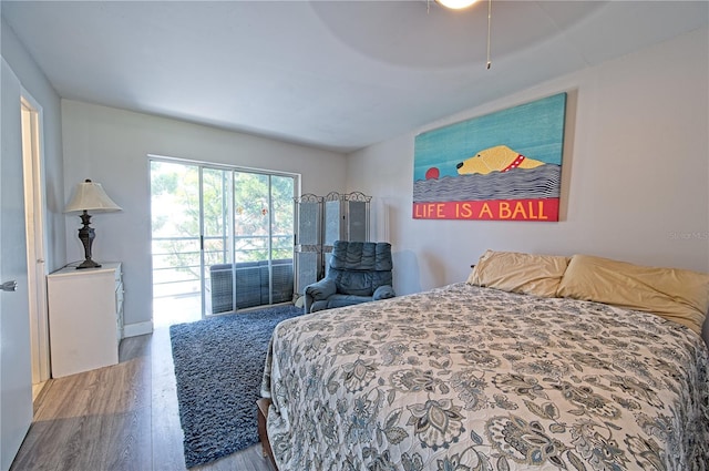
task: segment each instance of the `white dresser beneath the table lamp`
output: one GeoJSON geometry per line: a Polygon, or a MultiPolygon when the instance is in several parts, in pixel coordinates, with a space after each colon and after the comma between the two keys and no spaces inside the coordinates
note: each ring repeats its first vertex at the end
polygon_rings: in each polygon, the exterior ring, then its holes
{"type": "Polygon", "coordinates": [[[123,338],[121,263],[47,277],[52,377],[116,365],[123,338]]]}

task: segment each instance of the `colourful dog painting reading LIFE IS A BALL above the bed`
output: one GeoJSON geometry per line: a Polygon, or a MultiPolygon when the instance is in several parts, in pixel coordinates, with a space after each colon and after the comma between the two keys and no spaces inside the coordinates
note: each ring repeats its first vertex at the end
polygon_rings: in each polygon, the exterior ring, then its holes
{"type": "Polygon", "coordinates": [[[421,133],[418,219],[558,221],[566,93],[421,133]]]}

